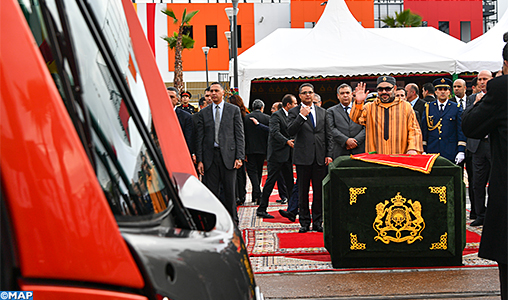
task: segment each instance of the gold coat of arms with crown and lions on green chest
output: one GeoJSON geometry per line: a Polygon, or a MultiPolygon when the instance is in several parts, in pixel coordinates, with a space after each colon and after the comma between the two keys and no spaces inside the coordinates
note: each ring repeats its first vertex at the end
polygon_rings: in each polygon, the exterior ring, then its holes
{"type": "Polygon", "coordinates": [[[376,205],[377,217],[372,226],[378,235],[374,240],[385,244],[390,242],[412,244],[422,240],[420,233],[425,228],[425,222],[420,202],[406,200],[400,192],[391,199],[391,202],[390,205],[390,202],[385,200],[384,203],[376,205]]]}

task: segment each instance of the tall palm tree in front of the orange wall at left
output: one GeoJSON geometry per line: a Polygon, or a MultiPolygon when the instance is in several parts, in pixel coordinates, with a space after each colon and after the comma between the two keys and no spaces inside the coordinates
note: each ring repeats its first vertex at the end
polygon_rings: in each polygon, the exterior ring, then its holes
{"type": "MultiPolygon", "coordinates": [[[[172,9],[164,9],[161,10],[161,12],[173,18],[173,24],[177,24],[179,22],[172,9]]],[[[183,34],[183,31],[185,26],[189,25],[190,20],[198,12],[199,12],[198,10],[195,10],[187,14],[187,9],[184,9],[182,18],[180,19],[180,23],[178,24],[178,33],[174,32],[173,36],[171,37],[168,36],[162,37],[162,39],[168,42],[169,48],[175,49],[175,76],[173,83],[175,88],[177,88],[180,92],[183,91],[182,51],[183,49],[194,48],[194,40],[191,37],[189,37],[189,35],[183,34]]]]}

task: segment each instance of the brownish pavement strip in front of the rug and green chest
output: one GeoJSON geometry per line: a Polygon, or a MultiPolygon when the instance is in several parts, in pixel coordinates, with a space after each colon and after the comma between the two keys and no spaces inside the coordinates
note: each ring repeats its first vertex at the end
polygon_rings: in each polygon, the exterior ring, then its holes
{"type": "MultiPolygon", "coordinates": [[[[247,188],[250,192],[250,182],[247,188]]],[[[273,300],[501,298],[497,267],[292,272],[255,277],[264,298],[273,300]]]]}

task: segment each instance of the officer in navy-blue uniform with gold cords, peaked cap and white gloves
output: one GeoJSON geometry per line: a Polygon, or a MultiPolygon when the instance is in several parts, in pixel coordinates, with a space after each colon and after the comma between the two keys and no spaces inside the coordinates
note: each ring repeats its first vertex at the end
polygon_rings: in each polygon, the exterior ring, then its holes
{"type": "Polygon", "coordinates": [[[462,133],[462,107],[449,100],[452,81],[438,78],[433,82],[437,100],[425,104],[421,127],[423,149],[461,163],[464,160],[466,137],[462,133]]]}

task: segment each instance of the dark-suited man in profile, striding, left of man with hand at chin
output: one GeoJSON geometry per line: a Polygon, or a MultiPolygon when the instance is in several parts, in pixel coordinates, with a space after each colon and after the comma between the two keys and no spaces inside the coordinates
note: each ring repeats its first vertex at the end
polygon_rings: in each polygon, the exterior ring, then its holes
{"type": "MultiPolygon", "coordinates": [[[[294,140],[288,133],[288,111],[296,106],[296,98],[293,95],[287,94],[282,99],[282,109],[274,112],[270,117],[270,133],[268,135],[268,157],[267,169],[268,177],[266,178],[265,186],[263,187],[263,194],[261,196],[261,203],[256,211],[258,217],[273,218],[272,215],[266,212],[268,207],[268,199],[272,194],[275,182],[279,178],[279,174],[284,177],[284,182],[289,193],[293,190],[293,163],[291,162],[291,149],[294,145],[294,140]]],[[[288,195],[290,197],[291,194],[288,195]]],[[[290,203],[288,211],[279,211],[282,216],[295,221],[298,206],[296,203],[290,203]],[[293,207],[292,207],[293,206],[293,207]],[[287,215],[284,215],[287,214],[287,215]]]]}

